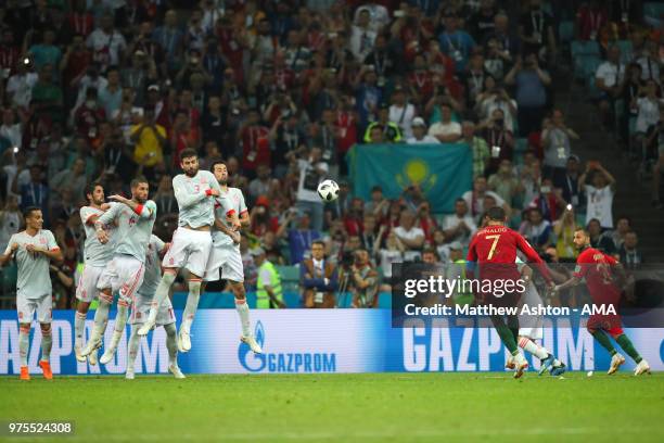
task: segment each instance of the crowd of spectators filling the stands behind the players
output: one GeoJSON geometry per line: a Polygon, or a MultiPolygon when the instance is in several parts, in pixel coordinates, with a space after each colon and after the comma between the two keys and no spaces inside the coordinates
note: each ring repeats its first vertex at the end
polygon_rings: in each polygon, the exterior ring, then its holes
{"type": "MultiPolygon", "coordinates": [[[[609,115],[606,103],[628,97],[636,132],[624,140],[656,151],[664,47],[636,3],[584,3],[576,31],[596,39],[612,24],[633,39],[628,65],[602,41],[600,109],[609,115]]],[[[22,208],[41,207],[65,255],[52,266],[56,305],[71,306],[85,185],[128,193],[129,180],[145,176],[155,233],[167,240],[178,212],[170,178],[179,153],[194,148],[202,167],[226,161],[230,185],[247,199],[252,225],[241,248],[250,290],[256,257],[295,265],[316,244],[358,288],[369,276],[371,288],[387,289],[393,263],[463,260],[493,205],[549,261],[575,257],[582,224],[593,245],[639,263],[629,219],[613,214],[615,178],[574,154],[584,141],[554,106],[556,61],[564,56],[557,25],[540,0],[8,0],[0,248],[20,229],[22,208]],[[518,152],[519,140],[526,148],[518,152]],[[472,190],[452,214],[432,214],[417,186],[392,200],[375,187],[362,201],[344,159],[356,143],[464,143],[472,190]],[[340,198],[323,205],[316,186],[328,177],[340,198]]]]}

